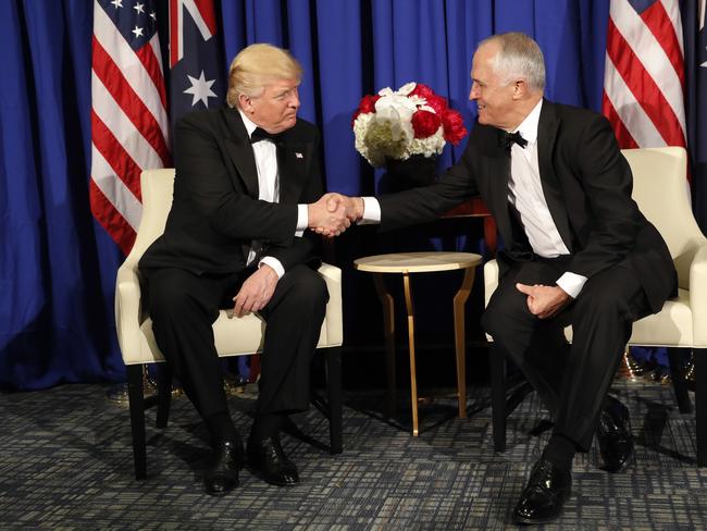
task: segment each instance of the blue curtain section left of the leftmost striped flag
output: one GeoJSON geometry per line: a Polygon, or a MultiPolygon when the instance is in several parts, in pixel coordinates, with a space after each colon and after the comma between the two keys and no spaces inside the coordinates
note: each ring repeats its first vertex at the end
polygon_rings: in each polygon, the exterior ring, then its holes
{"type": "Polygon", "coordinates": [[[0,384],[121,379],[119,254],[88,205],[86,2],[2,2],[0,384]]]}

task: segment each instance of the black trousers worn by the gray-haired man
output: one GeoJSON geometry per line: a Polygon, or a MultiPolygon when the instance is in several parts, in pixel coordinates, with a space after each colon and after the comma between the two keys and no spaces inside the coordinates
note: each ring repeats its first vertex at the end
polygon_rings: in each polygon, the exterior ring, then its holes
{"type": "Polygon", "coordinates": [[[500,279],[482,325],[537,391],[555,420],[554,432],[586,452],[632,324],[650,309],[636,275],[618,264],[592,276],[556,317],[536,318],[516,283],[555,285],[566,268],[561,258],[514,262],[500,279]],[[571,345],[562,332],[567,324],[572,324],[571,345]]]}

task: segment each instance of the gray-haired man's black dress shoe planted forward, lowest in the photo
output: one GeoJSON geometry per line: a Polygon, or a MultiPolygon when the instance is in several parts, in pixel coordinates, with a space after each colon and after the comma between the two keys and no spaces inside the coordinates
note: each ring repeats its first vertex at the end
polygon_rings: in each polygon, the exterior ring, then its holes
{"type": "Polygon", "coordinates": [[[531,471],[528,485],[516,506],[519,523],[547,523],[560,516],[565,502],[570,497],[572,476],[560,472],[555,465],[541,458],[531,471]]]}

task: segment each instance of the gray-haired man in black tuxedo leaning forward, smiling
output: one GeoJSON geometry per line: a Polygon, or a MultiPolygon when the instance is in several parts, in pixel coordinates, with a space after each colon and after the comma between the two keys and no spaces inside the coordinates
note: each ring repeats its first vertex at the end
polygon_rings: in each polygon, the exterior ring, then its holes
{"type": "Polygon", "coordinates": [[[618,471],[630,458],[629,411],[607,393],[632,323],[677,294],[677,274],[631,199],[631,169],[608,121],[543,98],[544,59],[533,39],[485,39],[471,79],[479,123],[457,164],[429,187],[377,200],[331,195],[330,208],[344,203],[352,221],[393,230],[482,196],[505,243],[482,325],[555,421],[514,510],[519,522],[541,523],[561,513],[573,456],[595,433],[603,468],[618,471]]]}

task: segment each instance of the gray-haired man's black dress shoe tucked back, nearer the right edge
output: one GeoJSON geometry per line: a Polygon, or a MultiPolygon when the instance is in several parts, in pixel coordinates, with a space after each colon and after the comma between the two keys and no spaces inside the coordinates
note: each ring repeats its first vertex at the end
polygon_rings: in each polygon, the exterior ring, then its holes
{"type": "Polygon", "coordinates": [[[596,437],[603,461],[599,468],[609,472],[621,470],[633,453],[633,437],[629,410],[616,398],[609,397],[599,413],[596,437]]]}

